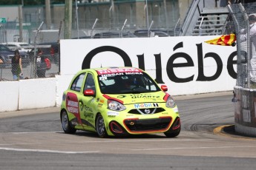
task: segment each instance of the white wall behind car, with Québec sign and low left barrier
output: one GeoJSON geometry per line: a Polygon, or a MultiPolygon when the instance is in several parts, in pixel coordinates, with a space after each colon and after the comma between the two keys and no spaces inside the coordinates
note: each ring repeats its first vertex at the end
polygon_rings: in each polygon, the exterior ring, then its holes
{"type": "MultiPolygon", "coordinates": [[[[145,71],[152,78],[156,78],[156,57],[161,58],[161,73],[163,82],[168,86],[171,95],[193,95],[208,92],[223,92],[233,90],[235,78],[227,70],[228,58],[236,51],[236,47],[223,47],[206,44],[204,41],[216,36],[191,36],[167,38],[109,38],[109,39],[80,39],[61,41],[61,75],[55,78],[27,79],[21,81],[0,81],[0,112],[15,111],[18,109],[37,109],[51,106],[60,106],[62,93],[68,88],[73,75],[82,69],[82,62],[92,51],[99,47],[114,47],[128,55],[133,67],[138,67],[138,55],[144,55],[145,71]],[[177,47],[177,44],[183,46],[177,47]],[[198,47],[202,47],[200,50],[198,47]],[[200,51],[200,52],[198,52],[200,51]],[[199,54],[200,53],[200,54],[199,54]],[[209,55],[210,54],[210,55],[209,55]],[[168,75],[170,67],[168,61],[174,56],[173,64],[184,64],[191,58],[194,66],[174,67],[174,74],[178,78],[194,76],[191,81],[180,83],[173,81],[174,76],[168,75]],[[212,57],[220,58],[221,62],[212,57]],[[199,59],[201,58],[201,59],[199,59]],[[203,75],[211,77],[221,66],[221,73],[210,81],[198,81],[199,60],[203,60],[203,75]],[[218,65],[220,64],[220,65],[218,65]]],[[[234,60],[236,57],[234,58],[234,60]]],[[[124,66],[124,61],[115,52],[96,52],[91,60],[90,67],[118,67],[124,66]]],[[[236,64],[233,65],[236,71],[236,64]]]]}

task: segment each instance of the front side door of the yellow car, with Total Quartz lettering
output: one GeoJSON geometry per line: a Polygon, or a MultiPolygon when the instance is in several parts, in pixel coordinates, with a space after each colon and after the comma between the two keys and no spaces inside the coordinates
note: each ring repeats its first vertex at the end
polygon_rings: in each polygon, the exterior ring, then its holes
{"type": "Polygon", "coordinates": [[[91,89],[94,92],[93,96],[83,96],[79,99],[79,106],[81,108],[80,117],[82,119],[82,125],[85,130],[95,130],[95,114],[96,114],[96,86],[93,74],[88,72],[85,78],[85,86],[83,87],[83,92],[85,90],[91,89]]]}

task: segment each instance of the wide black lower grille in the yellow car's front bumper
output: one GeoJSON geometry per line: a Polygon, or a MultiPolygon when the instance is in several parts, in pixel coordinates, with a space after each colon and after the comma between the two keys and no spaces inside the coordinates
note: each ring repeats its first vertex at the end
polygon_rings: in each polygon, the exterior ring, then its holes
{"type": "Polygon", "coordinates": [[[168,128],[171,123],[171,117],[141,120],[127,119],[124,123],[130,132],[160,131],[168,128]]]}

